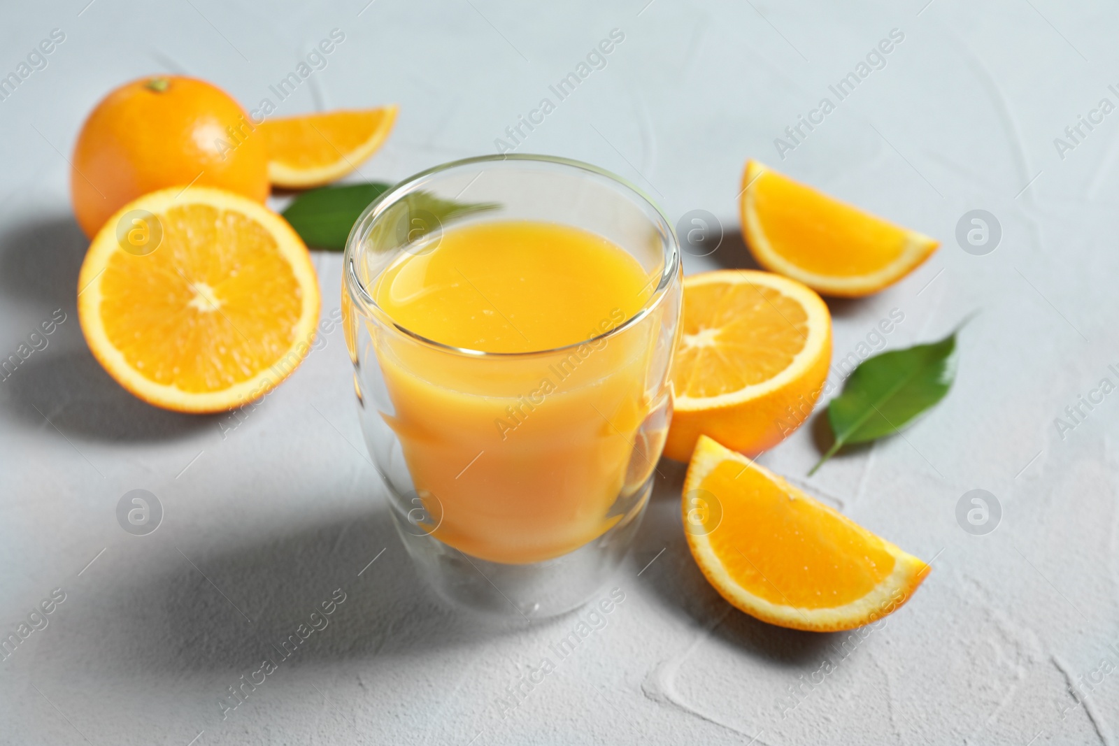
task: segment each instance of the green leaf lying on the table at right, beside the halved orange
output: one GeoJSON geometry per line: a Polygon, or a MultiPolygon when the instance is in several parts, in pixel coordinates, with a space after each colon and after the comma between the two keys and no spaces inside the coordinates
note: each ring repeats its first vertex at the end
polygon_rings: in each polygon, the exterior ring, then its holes
{"type": "Polygon", "coordinates": [[[864,360],[828,404],[835,443],[808,472],[848,443],[891,435],[948,394],[956,378],[956,334],[931,344],[892,350],[864,360]]]}

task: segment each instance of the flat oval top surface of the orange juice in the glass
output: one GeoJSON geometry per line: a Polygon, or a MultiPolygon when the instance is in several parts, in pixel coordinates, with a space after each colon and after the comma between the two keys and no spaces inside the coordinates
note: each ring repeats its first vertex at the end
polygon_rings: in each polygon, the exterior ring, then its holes
{"type": "Polygon", "coordinates": [[[375,299],[394,321],[430,340],[483,352],[574,344],[645,304],[637,259],[579,228],[529,221],[453,228],[430,253],[389,267],[375,299]]]}

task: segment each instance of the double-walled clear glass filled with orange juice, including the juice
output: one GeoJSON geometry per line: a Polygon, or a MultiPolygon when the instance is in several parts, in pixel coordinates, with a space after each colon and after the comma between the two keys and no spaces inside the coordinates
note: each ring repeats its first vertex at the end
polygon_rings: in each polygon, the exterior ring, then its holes
{"type": "Polygon", "coordinates": [[[619,566],[671,417],[680,287],[665,215],[586,163],[472,158],[365,210],[342,276],[358,412],[442,596],[549,616],[619,566]]]}

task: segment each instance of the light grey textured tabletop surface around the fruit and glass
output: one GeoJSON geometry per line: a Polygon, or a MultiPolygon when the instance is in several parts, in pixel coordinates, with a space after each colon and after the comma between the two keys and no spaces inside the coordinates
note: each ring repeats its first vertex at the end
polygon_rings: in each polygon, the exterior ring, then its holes
{"type": "MultiPolygon", "coordinates": [[[[1108,370],[1119,367],[1119,112],[1063,159],[1053,142],[1101,98],[1119,104],[1115,7],[86,2],[6,2],[0,22],[4,74],[53,28],[66,34],[0,102],[0,353],[55,309],[67,314],[0,383],[0,630],[66,593],[49,626],[0,661],[0,743],[1117,743],[1119,676],[1099,667],[1119,663],[1119,394],[1063,437],[1054,418],[1104,376],[1119,383],[1108,370]],[[161,412],[117,387],[75,313],[86,242],[66,158],[83,117],[154,72],[200,76],[255,107],[333,28],[345,41],[279,114],[399,103],[388,144],[356,179],[493,152],[618,28],[608,67],[519,150],[612,169],[674,220],[716,214],[728,235],[688,272],[750,266],[735,200],[747,157],[941,239],[894,287],[830,306],[837,358],[892,309],[904,313],[892,348],[979,310],[947,399],[904,437],[812,479],[815,418],[761,459],[935,557],[912,602],[846,658],[840,635],[731,610],[686,549],[683,469],[664,462],[614,584],[626,601],[502,718],[507,689],[577,618],[493,627],[417,585],[363,451],[339,330],[226,437],[222,417],[161,412]],[[904,41],[886,67],[780,159],[774,138],[893,28],[904,41]],[[956,244],[971,209],[1002,224],[989,255],[956,244]],[[984,537],[956,520],[977,488],[1003,507],[984,537]],[[116,522],[133,489],[166,511],[145,537],[116,522]],[[223,720],[226,687],[338,587],[347,601],[330,626],[223,720]],[[825,659],[836,670],[790,709],[790,684],[825,659]],[[1070,684],[1094,671],[1081,703],[1070,684]]],[[[327,318],[339,257],[314,264],[327,318]]]]}

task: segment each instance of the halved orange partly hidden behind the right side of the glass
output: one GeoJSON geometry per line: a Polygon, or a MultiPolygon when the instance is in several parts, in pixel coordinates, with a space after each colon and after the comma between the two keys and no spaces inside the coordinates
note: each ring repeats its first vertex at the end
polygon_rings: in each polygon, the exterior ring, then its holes
{"type": "Polygon", "coordinates": [[[756,455],[811,414],[831,362],[831,315],[820,296],[769,272],[684,278],[665,455],[692,457],[700,435],[756,455]]]}

